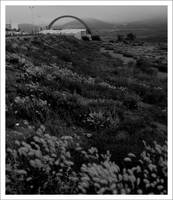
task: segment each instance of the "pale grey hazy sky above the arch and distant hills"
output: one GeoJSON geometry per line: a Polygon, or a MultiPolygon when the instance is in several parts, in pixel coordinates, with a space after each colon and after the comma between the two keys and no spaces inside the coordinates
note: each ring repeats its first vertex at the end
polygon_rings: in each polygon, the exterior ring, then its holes
{"type": "Polygon", "coordinates": [[[7,6],[6,23],[48,24],[61,15],[95,18],[106,22],[129,22],[164,18],[166,6],[7,6]]]}

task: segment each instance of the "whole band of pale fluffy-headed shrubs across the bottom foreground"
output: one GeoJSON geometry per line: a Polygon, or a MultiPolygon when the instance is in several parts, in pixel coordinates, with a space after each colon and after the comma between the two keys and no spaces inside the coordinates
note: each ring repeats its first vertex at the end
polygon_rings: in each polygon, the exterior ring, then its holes
{"type": "Polygon", "coordinates": [[[139,159],[129,153],[123,168],[111,155],[84,150],[75,138],[57,138],[41,127],[26,141],[6,150],[8,194],[166,194],[167,147],[145,144],[139,159]],[[82,157],[79,168],[73,156],[82,157]]]}

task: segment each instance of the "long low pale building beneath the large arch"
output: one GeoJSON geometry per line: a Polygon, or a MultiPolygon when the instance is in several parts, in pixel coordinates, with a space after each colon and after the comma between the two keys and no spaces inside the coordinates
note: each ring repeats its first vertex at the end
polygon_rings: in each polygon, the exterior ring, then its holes
{"type": "Polygon", "coordinates": [[[86,29],[62,29],[62,30],[43,30],[40,34],[69,35],[81,40],[82,37],[90,37],[86,29]]]}

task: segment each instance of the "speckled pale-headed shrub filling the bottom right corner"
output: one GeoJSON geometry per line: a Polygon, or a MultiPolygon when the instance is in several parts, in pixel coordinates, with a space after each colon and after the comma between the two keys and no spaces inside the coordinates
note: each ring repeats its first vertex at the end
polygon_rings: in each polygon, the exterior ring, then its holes
{"type": "Polygon", "coordinates": [[[144,193],[167,193],[167,145],[154,142],[149,146],[144,142],[145,150],[141,154],[143,168],[142,181],[144,193]]]}

